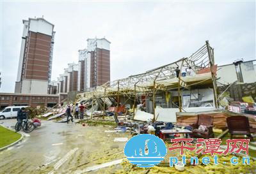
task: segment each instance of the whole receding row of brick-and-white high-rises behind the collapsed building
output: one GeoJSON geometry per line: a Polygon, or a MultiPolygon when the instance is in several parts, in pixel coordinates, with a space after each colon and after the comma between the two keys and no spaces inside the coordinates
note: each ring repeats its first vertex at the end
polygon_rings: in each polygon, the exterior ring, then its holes
{"type": "Polygon", "coordinates": [[[87,41],[87,48],[78,50],[78,64],[68,64],[65,73],[58,78],[58,94],[84,92],[110,81],[110,42],[105,38],[87,41]]]}

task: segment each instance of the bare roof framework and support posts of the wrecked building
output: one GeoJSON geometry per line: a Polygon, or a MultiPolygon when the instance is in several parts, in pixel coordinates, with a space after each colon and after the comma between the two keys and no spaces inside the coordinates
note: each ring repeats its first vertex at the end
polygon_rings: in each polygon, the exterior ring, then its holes
{"type": "Polygon", "coordinates": [[[152,110],[156,118],[156,93],[159,91],[177,91],[179,98],[179,111],[182,112],[181,92],[190,90],[195,85],[207,85],[212,87],[214,93],[214,106],[218,107],[216,92],[216,65],[214,64],[214,49],[209,42],[199,48],[189,57],[183,57],[176,62],[166,64],[159,68],[151,69],[145,73],[132,75],[127,78],[104,83],[92,92],[84,92],[77,95],[78,102],[86,100],[97,101],[104,110],[106,102],[102,99],[116,99],[120,103],[120,96],[133,101],[133,115],[137,96],[144,94],[152,96],[152,110]],[[184,70],[185,69],[185,70],[184,70]],[[189,69],[190,75],[183,75],[189,69]],[[100,102],[102,101],[102,102],[100,102]],[[104,106],[102,106],[104,105],[104,106]]]}

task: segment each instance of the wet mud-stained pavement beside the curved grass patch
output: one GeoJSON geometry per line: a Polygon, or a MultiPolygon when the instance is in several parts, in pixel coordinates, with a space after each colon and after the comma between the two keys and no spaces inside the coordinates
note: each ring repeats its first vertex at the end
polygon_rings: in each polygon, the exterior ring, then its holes
{"type": "MultiPolygon", "coordinates": [[[[15,126],[16,120],[0,123],[15,126]]],[[[112,128],[43,120],[42,127],[29,133],[29,137],[1,152],[0,173],[67,173],[68,168],[88,161],[89,154],[111,149],[114,144],[122,150],[125,143],[114,143],[113,139],[129,134],[104,133],[107,129],[112,128]],[[42,167],[43,164],[47,165],[42,167]]]]}

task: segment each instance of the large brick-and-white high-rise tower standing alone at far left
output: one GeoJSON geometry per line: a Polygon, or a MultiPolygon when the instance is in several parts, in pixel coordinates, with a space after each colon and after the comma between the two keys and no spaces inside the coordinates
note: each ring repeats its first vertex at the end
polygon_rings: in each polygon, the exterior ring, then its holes
{"type": "Polygon", "coordinates": [[[54,25],[44,18],[23,20],[15,93],[47,94],[51,81],[54,25]]]}

